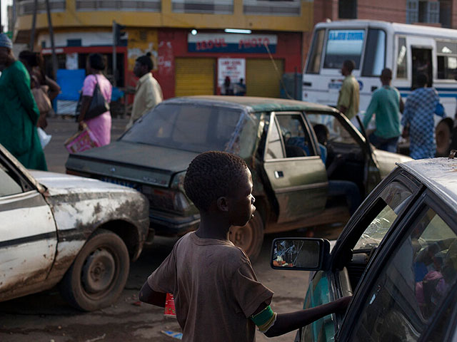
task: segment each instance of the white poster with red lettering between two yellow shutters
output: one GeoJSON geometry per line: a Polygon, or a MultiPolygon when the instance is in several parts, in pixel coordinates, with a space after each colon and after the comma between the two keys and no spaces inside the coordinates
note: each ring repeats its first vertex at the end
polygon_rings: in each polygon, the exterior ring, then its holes
{"type": "Polygon", "coordinates": [[[246,80],[246,60],[244,58],[218,59],[217,83],[222,95],[236,95],[241,78],[243,81],[246,80]]]}

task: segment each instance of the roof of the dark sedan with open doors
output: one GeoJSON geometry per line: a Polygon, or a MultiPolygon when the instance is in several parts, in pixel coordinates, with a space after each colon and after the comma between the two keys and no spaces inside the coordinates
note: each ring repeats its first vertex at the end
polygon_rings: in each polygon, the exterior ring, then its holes
{"type": "Polygon", "coordinates": [[[335,108],[318,103],[310,103],[283,98],[257,98],[251,96],[199,95],[182,98],[171,98],[164,103],[192,103],[202,105],[225,105],[232,108],[243,108],[248,112],[266,112],[273,110],[316,110],[334,112],[335,108]]]}

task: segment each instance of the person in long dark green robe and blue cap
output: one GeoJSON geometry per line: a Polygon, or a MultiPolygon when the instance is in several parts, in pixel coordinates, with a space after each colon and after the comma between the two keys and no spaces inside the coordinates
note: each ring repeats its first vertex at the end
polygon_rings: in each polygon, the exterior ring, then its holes
{"type": "Polygon", "coordinates": [[[29,72],[14,58],[13,43],[5,33],[0,33],[0,69],[0,143],[24,167],[47,170],[36,131],[39,110],[31,92],[29,72]]]}

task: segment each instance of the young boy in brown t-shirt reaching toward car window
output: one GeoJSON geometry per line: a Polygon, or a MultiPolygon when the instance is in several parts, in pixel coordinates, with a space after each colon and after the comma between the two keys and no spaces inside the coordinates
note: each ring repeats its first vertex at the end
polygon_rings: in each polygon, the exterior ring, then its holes
{"type": "Polygon", "coordinates": [[[256,207],[246,162],[226,152],[204,152],[189,165],[187,196],[200,211],[200,226],[173,251],[141,288],[139,299],[164,307],[174,294],[183,341],[255,341],[255,326],[278,336],[336,311],[349,297],[313,309],[276,314],[273,292],[259,283],[246,254],[229,240],[231,225],[243,226],[256,207]]]}

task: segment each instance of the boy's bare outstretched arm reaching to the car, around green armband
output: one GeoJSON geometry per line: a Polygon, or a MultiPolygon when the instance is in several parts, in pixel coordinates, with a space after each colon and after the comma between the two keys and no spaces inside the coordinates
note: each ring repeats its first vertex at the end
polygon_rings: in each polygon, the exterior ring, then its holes
{"type": "MultiPolygon", "coordinates": [[[[348,307],[349,301],[351,301],[351,296],[346,296],[336,301],[332,301],[328,304],[323,304],[321,306],[316,306],[315,308],[299,310],[289,312],[287,314],[276,314],[276,321],[265,331],[267,337],[274,337],[283,335],[290,331],[294,331],[302,326],[306,326],[313,321],[318,320],[319,318],[325,317],[329,314],[336,313],[338,311],[345,311],[348,307]]],[[[258,307],[253,316],[263,311],[266,308],[266,304],[262,304],[258,307]]]]}

